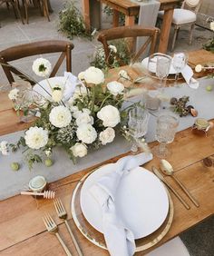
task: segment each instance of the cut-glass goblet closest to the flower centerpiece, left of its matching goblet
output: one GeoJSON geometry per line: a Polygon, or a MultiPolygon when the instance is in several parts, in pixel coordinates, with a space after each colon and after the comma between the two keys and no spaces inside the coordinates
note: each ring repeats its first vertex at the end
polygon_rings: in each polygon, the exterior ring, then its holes
{"type": "Polygon", "coordinates": [[[132,152],[138,151],[137,141],[147,133],[149,118],[149,112],[141,106],[135,106],[129,111],[129,132],[134,140],[131,145],[132,152]]]}

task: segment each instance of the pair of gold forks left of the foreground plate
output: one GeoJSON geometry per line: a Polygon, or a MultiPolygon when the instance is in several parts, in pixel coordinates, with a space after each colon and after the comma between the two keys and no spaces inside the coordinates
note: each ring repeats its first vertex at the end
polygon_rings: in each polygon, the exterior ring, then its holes
{"type": "MultiPolygon", "coordinates": [[[[67,230],[69,231],[69,234],[73,240],[73,244],[76,248],[76,251],[78,252],[78,255],[83,256],[83,252],[81,251],[80,246],[73,234],[73,231],[69,226],[69,223],[67,222],[67,212],[63,206],[63,202],[58,198],[53,201],[53,204],[58,217],[63,220],[67,230]]],[[[44,225],[47,231],[56,235],[57,239],[60,241],[61,245],[63,246],[63,250],[65,251],[66,255],[72,256],[72,253],[69,251],[64,241],[62,240],[60,234],[58,233],[58,227],[56,223],[53,221],[53,218],[50,216],[50,214],[45,214],[43,220],[44,220],[44,225]]]]}

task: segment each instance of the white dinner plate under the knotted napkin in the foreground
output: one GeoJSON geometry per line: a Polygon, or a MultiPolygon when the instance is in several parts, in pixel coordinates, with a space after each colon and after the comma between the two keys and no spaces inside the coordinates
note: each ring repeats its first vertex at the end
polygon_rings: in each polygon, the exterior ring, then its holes
{"type": "MultiPolygon", "coordinates": [[[[85,219],[97,231],[102,231],[102,209],[89,189],[102,175],[113,171],[113,164],[107,164],[92,172],[81,190],[80,203],[85,219]]],[[[169,211],[167,192],[160,180],[148,170],[137,167],[126,175],[117,189],[115,205],[118,215],[140,239],[156,231],[164,222],[169,211]]]]}

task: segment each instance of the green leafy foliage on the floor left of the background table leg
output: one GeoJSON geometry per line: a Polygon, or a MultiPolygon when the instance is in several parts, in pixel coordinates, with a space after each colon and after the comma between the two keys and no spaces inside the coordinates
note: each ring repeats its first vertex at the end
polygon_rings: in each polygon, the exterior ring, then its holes
{"type": "Polygon", "coordinates": [[[92,35],[85,28],[82,14],[74,4],[73,1],[67,2],[59,13],[59,31],[66,34],[69,39],[73,39],[73,36],[92,39],[92,35]]]}

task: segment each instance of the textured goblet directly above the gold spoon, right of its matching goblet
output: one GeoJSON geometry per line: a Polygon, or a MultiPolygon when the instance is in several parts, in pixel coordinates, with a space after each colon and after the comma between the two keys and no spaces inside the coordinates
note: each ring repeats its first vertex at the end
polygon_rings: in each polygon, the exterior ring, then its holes
{"type": "Polygon", "coordinates": [[[153,148],[153,153],[160,157],[166,158],[170,155],[167,144],[172,143],[179,126],[179,117],[175,114],[162,113],[157,119],[155,138],[160,143],[153,148]]]}

